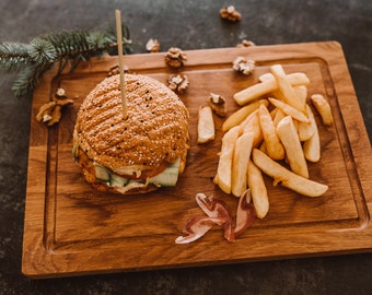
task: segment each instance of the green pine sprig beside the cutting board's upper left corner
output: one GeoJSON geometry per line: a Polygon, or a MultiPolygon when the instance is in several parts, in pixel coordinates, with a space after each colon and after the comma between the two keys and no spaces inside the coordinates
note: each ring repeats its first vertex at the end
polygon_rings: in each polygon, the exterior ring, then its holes
{"type": "MultiPolygon", "coordinates": [[[[124,52],[130,52],[129,30],[123,25],[124,52]]],[[[12,90],[20,97],[31,93],[42,75],[58,62],[58,73],[72,64],[73,70],[80,61],[105,52],[116,54],[117,42],[114,30],[106,31],[62,31],[33,38],[28,44],[1,43],[0,68],[7,72],[18,71],[12,90]]]]}

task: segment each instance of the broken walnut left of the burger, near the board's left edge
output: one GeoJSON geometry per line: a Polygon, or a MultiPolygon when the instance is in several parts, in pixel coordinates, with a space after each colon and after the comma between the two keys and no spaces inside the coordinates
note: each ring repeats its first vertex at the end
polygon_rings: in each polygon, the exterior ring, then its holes
{"type": "Polygon", "coordinates": [[[70,104],[73,104],[73,101],[67,98],[63,88],[58,88],[53,101],[40,106],[36,115],[36,120],[47,126],[53,126],[59,122],[62,116],[61,108],[70,104]]]}

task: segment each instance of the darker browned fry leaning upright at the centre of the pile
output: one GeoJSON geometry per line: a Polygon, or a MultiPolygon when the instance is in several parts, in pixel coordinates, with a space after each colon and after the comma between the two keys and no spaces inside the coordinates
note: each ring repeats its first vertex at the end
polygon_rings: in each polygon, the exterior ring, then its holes
{"type": "Polygon", "coordinates": [[[278,138],[270,113],[266,106],[259,106],[258,118],[268,155],[274,160],[282,160],[286,155],[284,149],[278,138]]]}

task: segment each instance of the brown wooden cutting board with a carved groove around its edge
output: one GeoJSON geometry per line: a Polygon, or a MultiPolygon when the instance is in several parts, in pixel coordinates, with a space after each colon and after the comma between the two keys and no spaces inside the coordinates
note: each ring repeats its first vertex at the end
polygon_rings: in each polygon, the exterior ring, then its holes
{"type": "MultiPolygon", "coordinates": [[[[181,97],[190,111],[191,148],[187,167],[175,188],[120,197],[102,193],[84,182],[71,156],[71,138],[82,99],[117,64],[117,57],[81,63],[73,73],[44,76],[34,92],[30,138],[22,271],[31,278],[68,276],[120,271],[183,268],[256,260],[365,252],[372,249],[372,155],[363,119],[338,43],[221,48],[186,51],[179,72],[190,85],[181,97]],[[232,61],[254,59],[251,76],[232,70],[232,61]],[[201,239],[176,245],[185,222],[202,214],[195,194],[224,200],[232,214],[237,199],[216,187],[223,119],[214,117],[217,138],[197,144],[197,113],[211,92],[228,99],[229,114],[239,108],[232,95],[257,82],[269,67],[281,63],[287,73],[304,72],[309,93],[324,94],[335,126],[319,125],[322,160],[310,164],[310,178],[329,186],[321,198],[272,187],[266,178],[270,210],[235,243],[216,226],[201,239]],[[63,87],[72,106],[58,126],[35,120],[40,105],[63,87]]],[[[125,56],[131,72],[161,82],[174,71],[164,54],[125,56]]],[[[319,118],[316,117],[319,121],[319,118]]]]}

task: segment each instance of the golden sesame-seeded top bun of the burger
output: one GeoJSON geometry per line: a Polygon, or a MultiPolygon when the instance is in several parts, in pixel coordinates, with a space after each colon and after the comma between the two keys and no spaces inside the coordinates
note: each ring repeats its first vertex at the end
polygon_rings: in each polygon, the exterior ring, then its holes
{"type": "Polygon", "coordinates": [[[103,80],[83,101],[73,132],[74,145],[119,175],[151,170],[189,149],[189,114],[179,97],[161,82],[126,74],[128,118],[123,117],[120,78],[103,80]]]}

